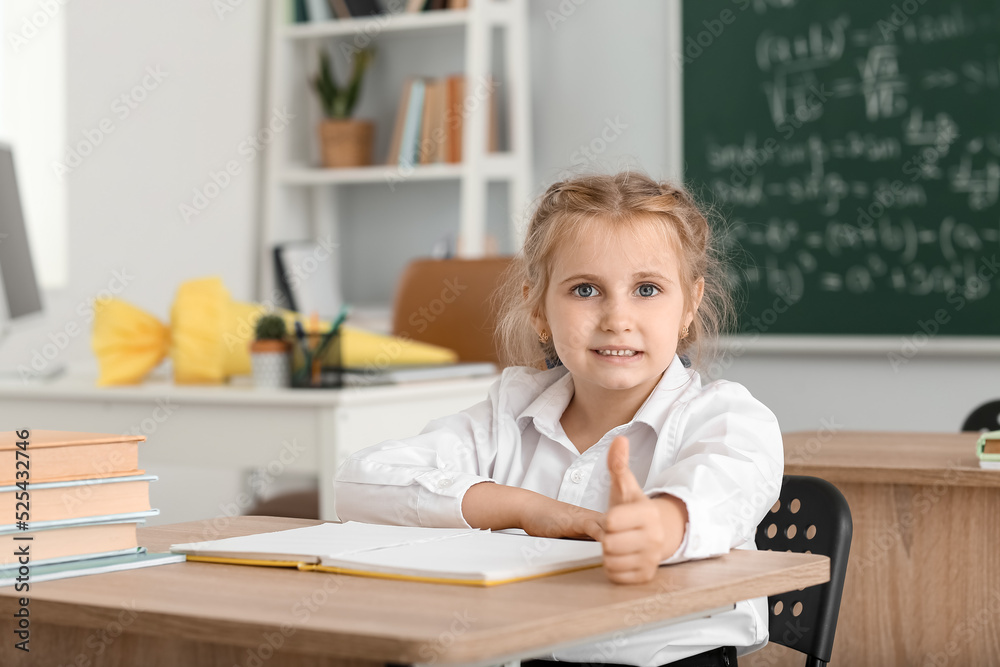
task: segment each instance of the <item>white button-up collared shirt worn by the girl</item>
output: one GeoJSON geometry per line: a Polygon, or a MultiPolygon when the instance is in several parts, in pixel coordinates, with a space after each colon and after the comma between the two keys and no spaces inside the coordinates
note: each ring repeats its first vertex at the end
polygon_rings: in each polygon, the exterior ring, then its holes
{"type": "MultiPolygon", "coordinates": [[[[756,549],[757,524],[778,499],[784,454],[777,419],[746,388],[724,380],[702,386],[675,356],[632,420],[582,454],[560,423],[572,396],[573,376],[564,366],[505,368],[480,403],[344,461],[334,483],[338,516],[469,528],[462,497],[485,481],[605,512],[608,447],[624,434],[646,494],[669,493],[687,506],[684,539],[664,564],[756,549]]],[[[757,598],[711,617],[540,657],[655,667],[717,646],[744,655],[766,642],[767,601],[757,598]]]]}

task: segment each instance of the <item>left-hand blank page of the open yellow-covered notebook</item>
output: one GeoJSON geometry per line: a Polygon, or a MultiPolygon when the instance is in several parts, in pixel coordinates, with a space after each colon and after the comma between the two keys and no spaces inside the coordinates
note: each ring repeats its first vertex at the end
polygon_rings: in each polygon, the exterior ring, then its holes
{"type": "Polygon", "coordinates": [[[301,560],[317,563],[321,556],[342,556],[359,551],[442,540],[478,532],[481,531],[476,528],[383,526],[348,521],[207,542],[173,544],[170,550],[175,553],[222,558],[301,560]]]}

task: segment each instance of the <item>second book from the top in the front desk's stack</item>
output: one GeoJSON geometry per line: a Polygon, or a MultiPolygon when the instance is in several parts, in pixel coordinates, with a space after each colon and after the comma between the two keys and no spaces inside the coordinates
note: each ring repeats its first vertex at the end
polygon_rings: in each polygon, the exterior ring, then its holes
{"type": "MultiPolygon", "coordinates": [[[[98,477],[63,482],[31,482],[31,521],[54,521],[141,512],[149,507],[149,483],[156,475],[98,477]]],[[[18,493],[15,484],[0,486],[0,517],[14,516],[18,493]]],[[[22,496],[23,497],[23,496],[22,496]]]]}

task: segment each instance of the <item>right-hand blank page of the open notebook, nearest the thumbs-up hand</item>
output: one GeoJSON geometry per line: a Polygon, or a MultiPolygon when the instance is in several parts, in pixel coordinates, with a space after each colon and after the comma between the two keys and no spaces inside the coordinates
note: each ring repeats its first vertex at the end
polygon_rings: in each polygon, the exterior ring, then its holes
{"type": "Polygon", "coordinates": [[[323,565],[367,572],[494,581],[599,564],[600,542],[477,531],[450,540],[325,557],[323,565]]]}

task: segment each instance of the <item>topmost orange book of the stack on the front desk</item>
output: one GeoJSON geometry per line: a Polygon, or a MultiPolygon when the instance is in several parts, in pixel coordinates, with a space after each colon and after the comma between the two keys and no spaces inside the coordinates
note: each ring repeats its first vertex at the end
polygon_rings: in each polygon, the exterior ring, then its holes
{"type": "MultiPolygon", "coordinates": [[[[144,435],[114,433],[84,433],[82,431],[33,430],[27,441],[30,480],[56,482],[91,477],[117,477],[137,475],[139,470],[139,443],[144,435]]],[[[0,484],[10,485],[23,481],[17,476],[17,443],[14,431],[0,432],[0,484]]],[[[24,464],[24,453],[21,464],[24,464]]]]}

